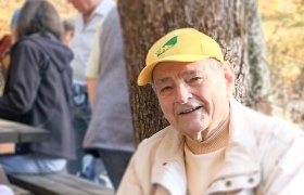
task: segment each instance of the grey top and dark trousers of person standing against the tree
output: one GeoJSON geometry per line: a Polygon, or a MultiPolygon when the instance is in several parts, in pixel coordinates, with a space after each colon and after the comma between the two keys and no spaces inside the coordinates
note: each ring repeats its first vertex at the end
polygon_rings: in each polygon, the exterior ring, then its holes
{"type": "Polygon", "coordinates": [[[107,174],[115,188],[135,150],[134,130],[130,116],[129,93],[124,42],[117,8],[113,8],[105,18],[101,37],[97,66],[96,99],[92,119],[85,136],[84,147],[98,150],[107,174]]]}

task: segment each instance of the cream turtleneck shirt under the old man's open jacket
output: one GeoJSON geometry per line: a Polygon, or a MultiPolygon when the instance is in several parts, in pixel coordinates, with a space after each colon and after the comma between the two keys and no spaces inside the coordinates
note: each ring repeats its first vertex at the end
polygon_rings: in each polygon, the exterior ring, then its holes
{"type": "Polygon", "coordinates": [[[183,152],[189,195],[205,194],[223,167],[229,142],[227,122],[223,125],[223,129],[217,130],[203,142],[186,139],[183,152]]]}

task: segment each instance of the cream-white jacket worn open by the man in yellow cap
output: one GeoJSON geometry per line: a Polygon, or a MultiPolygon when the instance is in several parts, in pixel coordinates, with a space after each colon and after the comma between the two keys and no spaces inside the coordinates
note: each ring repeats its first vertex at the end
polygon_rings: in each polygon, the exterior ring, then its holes
{"type": "MultiPolygon", "coordinates": [[[[230,101],[230,143],[225,165],[206,194],[303,195],[304,132],[230,101]]],[[[186,195],[185,138],[172,126],[144,140],[118,195],[186,195]]],[[[198,176],[203,180],[204,176],[198,176]]]]}

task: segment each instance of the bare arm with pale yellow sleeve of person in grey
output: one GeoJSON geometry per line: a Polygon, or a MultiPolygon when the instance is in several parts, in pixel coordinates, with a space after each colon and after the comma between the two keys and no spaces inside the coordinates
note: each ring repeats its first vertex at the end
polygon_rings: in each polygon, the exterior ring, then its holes
{"type": "Polygon", "coordinates": [[[93,109],[96,86],[99,77],[99,64],[100,64],[100,37],[102,32],[102,26],[100,26],[96,32],[93,47],[88,61],[86,77],[87,77],[87,88],[90,105],[93,109]]]}

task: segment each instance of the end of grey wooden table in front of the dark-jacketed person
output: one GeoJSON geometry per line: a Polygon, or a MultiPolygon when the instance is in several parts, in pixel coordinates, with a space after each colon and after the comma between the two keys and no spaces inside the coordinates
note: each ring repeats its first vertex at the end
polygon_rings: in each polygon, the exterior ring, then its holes
{"type": "Polygon", "coordinates": [[[41,128],[0,119],[0,155],[12,154],[16,143],[42,142],[50,133],[41,128]]]}

